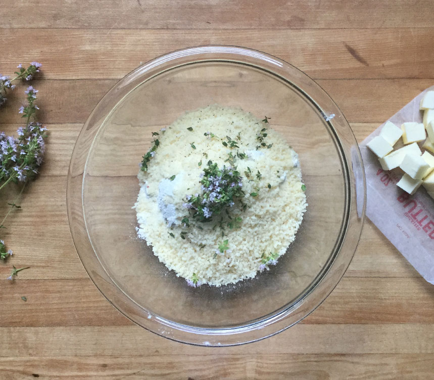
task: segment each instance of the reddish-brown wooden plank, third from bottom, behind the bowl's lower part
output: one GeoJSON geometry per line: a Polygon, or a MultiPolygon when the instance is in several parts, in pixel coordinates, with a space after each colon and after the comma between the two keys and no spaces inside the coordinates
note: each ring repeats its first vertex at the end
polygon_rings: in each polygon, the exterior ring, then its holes
{"type": "MultiPolygon", "coordinates": [[[[0,280],[1,327],[129,325],[88,279],[0,280]],[[21,300],[22,296],[27,302],[21,300]],[[43,308],[43,313],[37,313],[43,308]]],[[[343,278],[302,324],[434,324],[434,287],[422,278],[343,278]],[[399,311],[399,312],[397,312],[399,311]]]]}

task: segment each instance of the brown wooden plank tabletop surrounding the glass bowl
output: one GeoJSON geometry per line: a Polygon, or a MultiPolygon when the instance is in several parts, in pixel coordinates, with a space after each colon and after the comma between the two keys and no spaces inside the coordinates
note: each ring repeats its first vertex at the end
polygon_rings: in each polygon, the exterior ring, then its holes
{"type": "MultiPolygon", "coordinates": [[[[328,299],[296,326],[230,348],[175,343],[113,308],[69,232],[71,152],[101,97],[141,62],[195,45],[258,49],[330,94],[362,141],[434,84],[432,0],[0,0],[0,72],[37,60],[46,162],[8,219],[0,263],[0,379],[431,379],[434,286],[367,220],[328,299]],[[8,281],[12,265],[30,266],[8,281]],[[25,296],[27,302],[21,297],[25,296]]],[[[24,86],[0,110],[13,133],[24,86]]],[[[13,197],[1,194],[0,212],[13,197]]]]}

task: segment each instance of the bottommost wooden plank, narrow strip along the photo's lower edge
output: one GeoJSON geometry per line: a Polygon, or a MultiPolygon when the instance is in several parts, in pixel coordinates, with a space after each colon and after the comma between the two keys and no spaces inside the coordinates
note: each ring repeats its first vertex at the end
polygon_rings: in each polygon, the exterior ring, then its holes
{"type": "Polygon", "coordinates": [[[239,354],[0,358],[4,380],[342,379],[416,380],[434,374],[433,354],[239,354]]]}

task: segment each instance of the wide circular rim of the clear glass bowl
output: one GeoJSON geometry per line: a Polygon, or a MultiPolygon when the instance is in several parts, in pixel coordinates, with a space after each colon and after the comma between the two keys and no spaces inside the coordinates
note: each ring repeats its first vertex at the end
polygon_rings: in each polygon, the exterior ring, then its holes
{"type": "MultiPolygon", "coordinates": [[[[106,114],[106,118],[111,114],[114,107],[106,114]]],[[[93,128],[93,127],[92,127],[93,128]]],[[[336,141],[334,141],[336,143],[336,141]]],[[[337,148],[336,148],[337,149],[337,148]]],[[[353,152],[354,154],[354,152],[353,152]]],[[[353,162],[354,164],[354,162],[353,162]]],[[[75,199],[78,200],[78,199],[75,199]]],[[[289,328],[293,326],[294,324],[300,322],[304,318],[306,318],[310,313],[312,313],[330,294],[330,292],[334,289],[334,287],[339,283],[343,275],[345,274],[345,271],[347,270],[353,256],[355,253],[355,250],[357,248],[357,244],[360,240],[360,235],[362,232],[362,227],[364,223],[364,216],[365,216],[365,209],[366,209],[366,183],[365,183],[365,176],[364,176],[364,170],[363,170],[363,162],[360,155],[360,151],[358,149],[358,145],[356,142],[356,139],[354,137],[354,134],[350,128],[350,125],[348,124],[348,121],[346,120],[345,116],[341,112],[341,110],[337,107],[337,105],[332,101],[332,99],[328,96],[328,94],[313,80],[311,79],[307,74],[302,72],[301,70],[297,69],[295,66],[279,59],[274,56],[271,56],[266,53],[262,53],[257,50],[248,49],[248,48],[242,48],[242,47],[236,47],[236,46],[198,46],[198,47],[191,47],[191,48],[185,48],[177,51],[173,51],[171,53],[164,54],[160,57],[157,57],[147,63],[144,63],[140,65],[138,68],[132,70],[129,74],[127,74],[124,78],[119,80],[115,86],[110,89],[106,95],[99,101],[99,103],[94,107],[93,111],[89,115],[88,119],[83,125],[83,128],[79,134],[79,137],[77,138],[77,142],[74,146],[74,152],[71,157],[70,161],[70,167],[68,172],[68,185],[67,185],[67,209],[68,209],[68,220],[71,230],[71,235],[73,238],[74,246],[76,248],[77,254],[80,258],[80,261],[82,262],[86,272],[88,273],[89,277],[97,286],[97,288],[101,291],[101,293],[106,297],[106,299],[123,315],[125,315],[128,319],[133,321],[134,323],[138,324],[139,326],[152,331],[160,336],[166,337],[168,339],[182,342],[182,343],[188,343],[192,345],[199,345],[199,346],[232,346],[232,345],[240,345],[250,342],[255,342],[261,339],[265,339],[268,336],[277,334],[280,331],[285,330],[286,328],[289,328]],[[321,107],[315,100],[313,100],[309,94],[307,94],[303,89],[301,89],[298,86],[295,86],[293,83],[294,77],[292,75],[296,76],[299,75],[299,80],[302,80],[305,82],[305,84],[313,86],[314,91],[319,91],[321,93],[321,96],[325,96],[326,101],[329,101],[329,106],[333,106],[333,116],[339,115],[342,117],[341,121],[344,121],[345,125],[344,128],[346,129],[346,132],[351,133],[352,137],[352,143],[357,147],[355,156],[356,161],[359,164],[360,167],[358,167],[359,172],[362,174],[362,187],[363,187],[363,204],[361,205],[361,208],[357,210],[357,206],[354,207],[354,204],[352,204],[356,201],[356,196],[351,196],[351,193],[354,192],[351,191],[351,187],[354,187],[354,183],[351,177],[351,174],[353,174],[354,170],[351,169],[351,165],[349,165],[349,162],[345,159],[344,152],[340,152],[342,157],[341,160],[345,165],[347,165],[347,171],[348,171],[348,179],[346,179],[345,183],[347,185],[347,190],[349,190],[349,196],[347,199],[346,207],[348,206],[347,210],[347,221],[354,220],[354,213],[359,214],[359,218],[356,218],[356,222],[358,224],[358,228],[355,228],[354,225],[352,229],[355,229],[356,231],[356,243],[353,244],[351,250],[348,250],[347,252],[343,252],[342,245],[343,242],[348,239],[348,228],[351,227],[347,226],[345,231],[342,232],[342,242],[340,244],[340,249],[338,249],[335,254],[330,255],[329,259],[327,260],[327,263],[322,268],[321,272],[316,276],[315,280],[312,281],[311,286],[309,286],[309,290],[305,291],[304,293],[301,293],[300,297],[291,305],[291,306],[283,306],[279,309],[278,312],[273,312],[266,317],[260,319],[259,321],[254,321],[253,323],[248,323],[240,326],[235,327],[228,327],[228,328],[204,328],[204,327],[194,327],[194,326],[188,326],[183,325],[177,322],[173,322],[170,320],[167,320],[165,318],[159,317],[156,314],[153,314],[151,311],[146,310],[143,306],[140,306],[136,304],[126,293],[120,289],[120,287],[117,288],[117,290],[113,291],[113,285],[117,286],[116,283],[110,276],[107,274],[104,266],[101,265],[101,268],[105,274],[109,277],[112,284],[107,284],[107,278],[101,279],[101,276],[99,276],[97,273],[94,273],[95,268],[89,268],[90,265],[89,261],[86,259],[87,252],[83,252],[81,249],[78,248],[76,242],[79,236],[77,235],[76,229],[73,228],[73,223],[82,222],[84,225],[86,225],[85,221],[85,214],[84,214],[84,205],[82,204],[82,187],[84,186],[85,182],[85,168],[87,165],[87,160],[89,156],[89,151],[86,152],[86,161],[83,165],[80,165],[79,162],[77,163],[75,158],[79,154],[79,152],[85,151],[85,145],[80,144],[80,140],[82,141],[86,136],[86,134],[89,133],[91,128],[90,126],[93,125],[94,122],[99,120],[100,125],[98,128],[93,132],[93,139],[92,144],[95,139],[95,137],[99,134],[99,130],[101,129],[101,126],[104,125],[104,121],[101,122],[101,118],[95,117],[99,116],[99,112],[104,114],[104,103],[107,102],[108,99],[113,97],[116,100],[116,104],[119,103],[123,97],[119,97],[117,92],[121,89],[126,88],[127,86],[130,86],[131,89],[127,92],[127,94],[131,91],[133,91],[137,86],[134,86],[135,82],[143,83],[145,81],[150,80],[151,78],[154,78],[156,75],[161,74],[167,70],[177,68],[180,66],[183,66],[185,64],[196,64],[196,63],[203,63],[203,62],[227,62],[227,63],[248,63],[249,66],[253,66],[255,68],[259,69],[265,69],[265,71],[274,74],[275,76],[279,77],[280,79],[284,79],[288,84],[294,86],[297,88],[299,92],[301,92],[322,114],[324,117],[328,128],[330,131],[335,133],[337,142],[339,142],[339,137],[341,134],[339,131],[336,131],[333,128],[331,118],[328,117],[329,113],[325,112],[325,108],[321,107]],[[266,68],[268,67],[268,68],[266,68]],[[270,70],[271,67],[271,71],[270,70]],[[281,70],[283,74],[286,75],[279,75],[277,73],[277,70],[281,70]],[[293,79],[293,80],[292,80],[293,79]],[[83,148],[84,147],[84,148],[83,148]],[[77,192],[77,186],[74,185],[72,181],[72,177],[74,176],[74,173],[77,170],[80,171],[80,168],[82,167],[82,186],[80,189],[80,192],[78,194],[77,192]],[[81,166],[81,167],[80,167],[81,166]],[[347,183],[348,181],[348,183],[347,183]],[[352,186],[353,185],[353,186],[352,186]],[[76,215],[73,215],[72,213],[72,203],[74,201],[73,198],[78,198],[78,196],[81,197],[80,204],[81,204],[81,213],[82,215],[79,216],[77,219],[76,215]],[[82,220],[80,220],[80,217],[82,217],[82,220]],[[340,270],[339,272],[331,272],[329,269],[335,264],[336,259],[341,259],[343,261],[341,265],[339,266],[340,270]],[[321,274],[321,276],[320,276],[321,274]],[[318,289],[318,287],[322,288],[322,296],[321,297],[315,297],[314,290],[318,289]],[[119,299],[117,297],[126,297],[129,302],[131,302],[134,305],[127,305],[125,306],[125,299],[122,300],[122,302],[117,302],[119,299]],[[118,304],[122,304],[124,307],[119,306],[118,304]],[[139,308],[141,311],[146,312],[148,315],[147,317],[144,317],[143,315],[137,315],[139,313],[139,308]],[[129,309],[129,310],[127,310],[129,309]],[[294,313],[297,311],[297,313],[294,313]]],[[[80,212],[79,210],[79,212],[80,212]]],[[[87,238],[90,241],[90,237],[88,235],[87,227],[85,227],[87,238]]],[[[90,244],[91,246],[91,244],[90,244]]],[[[92,248],[93,249],[93,248],[92,248]]],[[[93,250],[93,255],[98,258],[97,254],[93,250]]],[[[99,261],[99,259],[98,259],[99,261]]],[[[101,264],[101,263],[100,263],[101,264]]],[[[103,276],[104,277],[104,276],[103,276]]],[[[127,301],[127,302],[128,302],[127,301]]]]}

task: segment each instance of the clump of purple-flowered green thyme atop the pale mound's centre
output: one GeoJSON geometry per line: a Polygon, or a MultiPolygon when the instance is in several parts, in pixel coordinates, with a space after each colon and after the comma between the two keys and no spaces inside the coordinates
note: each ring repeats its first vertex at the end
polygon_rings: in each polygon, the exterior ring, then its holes
{"type": "Polygon", "coordinates": [[[202,194],[187,195],[183,203],[191,217],[199,222],[210,222],[213,216],[220,215],[224,209],[232,207],[236,199],[245,196],[242,177],[236,167],[219,168],[209,160],[200,183],[202,194]]]}

